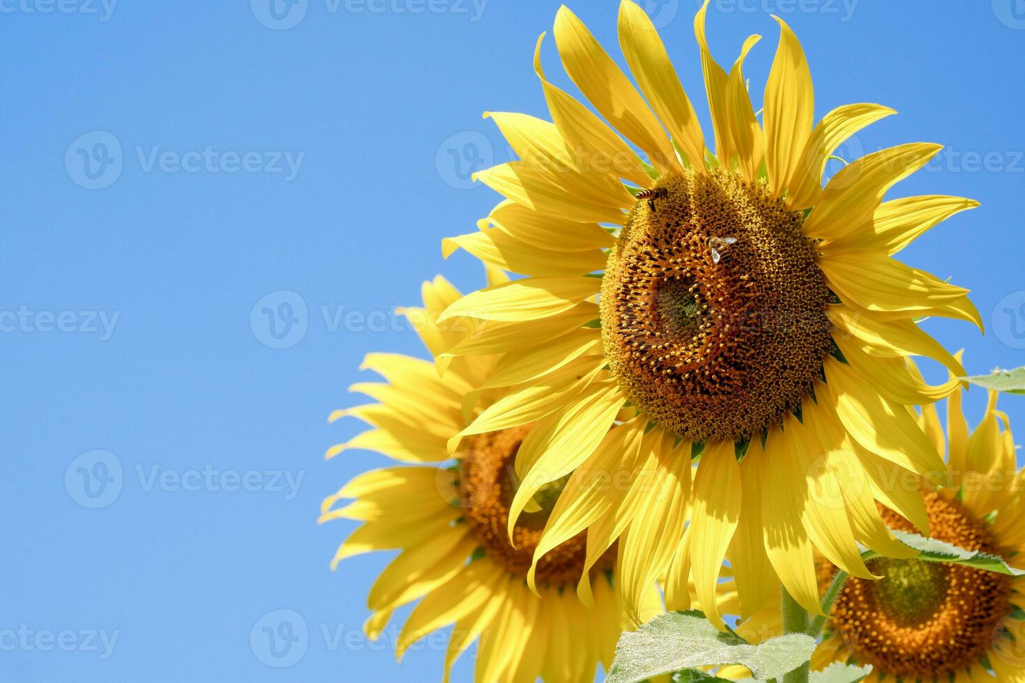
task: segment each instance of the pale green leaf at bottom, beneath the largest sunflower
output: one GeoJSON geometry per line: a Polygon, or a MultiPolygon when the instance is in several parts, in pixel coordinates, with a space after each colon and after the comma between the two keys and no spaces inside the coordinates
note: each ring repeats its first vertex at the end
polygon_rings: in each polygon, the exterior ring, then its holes
{"type": "Polygon", "coordinates": [[[657,616],[616,644],[607,683],[637,683],[682,669],[737,664],[760,680],[782,679],[812,657],[815,640],[804,634],[751,645],[737,634],[721,633],[699,611],[657,616]]]}

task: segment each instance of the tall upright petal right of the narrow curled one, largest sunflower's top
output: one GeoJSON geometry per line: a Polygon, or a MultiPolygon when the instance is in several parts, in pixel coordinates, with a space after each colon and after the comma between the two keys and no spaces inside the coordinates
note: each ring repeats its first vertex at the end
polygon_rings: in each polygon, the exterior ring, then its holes
{"type": "Polygon", "coordinates": [[[779,46],[766,83],[766,166],[769,188],[781,196],[798,175],[802,153],[815,120],[812,74],[801,42],[783,19],[779,46]]]}

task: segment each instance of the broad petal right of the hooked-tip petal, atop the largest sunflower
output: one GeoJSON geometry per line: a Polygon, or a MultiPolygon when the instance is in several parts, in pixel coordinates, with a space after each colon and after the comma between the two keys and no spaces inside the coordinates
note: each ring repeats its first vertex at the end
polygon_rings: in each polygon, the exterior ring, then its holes
{"type": "Polygon", "coordinates": [[[656,168],[680,170],[675,152],[648,103],[566,5],[556,14],[555,35],[566,73],[594,109],[644,150],[656,168]]]}

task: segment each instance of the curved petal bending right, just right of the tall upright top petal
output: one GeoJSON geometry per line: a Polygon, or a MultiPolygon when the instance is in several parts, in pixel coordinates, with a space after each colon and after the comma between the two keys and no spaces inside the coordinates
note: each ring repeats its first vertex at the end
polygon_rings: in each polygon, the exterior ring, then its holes
{"type": "Polygon", "coordinates": [[[822,194],[822,174],[829,156],[865,126],[893,114],[896,112],[879,104],[845,104],[825,115],[812,130],[801,162],[790,178],[786,196],[790,208],[807,209],[818,204],[822,194]]]}

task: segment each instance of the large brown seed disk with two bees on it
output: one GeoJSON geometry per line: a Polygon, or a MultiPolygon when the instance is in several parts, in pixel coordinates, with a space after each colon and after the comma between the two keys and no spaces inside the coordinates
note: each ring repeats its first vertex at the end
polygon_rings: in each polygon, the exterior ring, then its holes
{"type": "Polygon", "coordinates": [[[730,171],[687,169],[649,194],[602,287],[612,371],[680,436],[751,438],[801,405],[832,346],[804,218],[730,171]]]}

